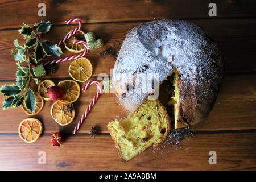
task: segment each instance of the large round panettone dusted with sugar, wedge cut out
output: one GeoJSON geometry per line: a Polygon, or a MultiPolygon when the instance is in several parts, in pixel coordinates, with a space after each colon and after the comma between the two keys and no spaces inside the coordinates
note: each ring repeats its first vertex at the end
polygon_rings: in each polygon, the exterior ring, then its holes
{"type": "MultiPolygon", "coordinates": [[[[203,121],[210,113],[223,67],[216,43],[200,27],[184,20],[155,20],[127,33],[114,65],[113,84],[118,100],[131,113],[155,99],[177,129],[203,121]]],[[[119,135],[113,130],[110,134],[117,144],[119,135]]]]}

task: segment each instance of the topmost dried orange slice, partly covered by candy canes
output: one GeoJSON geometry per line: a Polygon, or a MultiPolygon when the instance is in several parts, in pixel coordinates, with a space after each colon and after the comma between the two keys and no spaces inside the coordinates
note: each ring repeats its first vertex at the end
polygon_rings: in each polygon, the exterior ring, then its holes
{"type": "Polygon", "coordinates": [[[85,49],[84,44],[75,44],[75,42],[77,40],[86,41],[84,35],[85,33],[83,31],[77,31],[75,35],[71,36],[68,40],[65,41],[65,48],[73,53],[83,52],[85,49]]]}

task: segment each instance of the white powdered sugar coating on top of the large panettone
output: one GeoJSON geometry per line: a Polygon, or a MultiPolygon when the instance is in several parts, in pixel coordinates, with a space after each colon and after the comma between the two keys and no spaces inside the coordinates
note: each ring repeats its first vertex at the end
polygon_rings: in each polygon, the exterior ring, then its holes
{"type": "MultiPolygon", "coordinates": [[[[213,102],[222,78],[222,59],[201,28],[168,19],[134,27],[126,35],[113,70],[117,97],[126,109],[134,111],[154,93],[154,79],[160,84],[173,69],[179,69],[180,87],[185,90],[181,102],[202,106],[209,104],[203,100],[213,102]]],[[[205,109],[202,114],[207,112],[205,109]]]]}

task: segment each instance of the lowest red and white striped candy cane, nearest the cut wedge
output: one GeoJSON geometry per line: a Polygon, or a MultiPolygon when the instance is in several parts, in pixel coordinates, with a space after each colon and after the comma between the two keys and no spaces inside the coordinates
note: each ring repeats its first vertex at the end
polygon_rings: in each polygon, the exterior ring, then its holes
{"type": "Polygon", "coordinates": [[[98,81],[89,81],[83,88],[82,91],[85,91],[86,89],[88,89],[88,87],[92,84],[96,84],[97,86],[97,93],[96,95],[93,97],[92,102],[90,102],[89,106],[87,107],[87,109],[85,110],[84,114],[82,115],[81,119],[79,120],[79,122],[77,123],[77,126],[75,127],[75,129],[73,130],[73,134],[75,135],[77,130],[79,130],[80,126],[82,125],[82,122],[84,121],[84,119],[87,117],[89,111],[92,109],[92,107],[94,106],[95,102],[98,99],[98,96],[100,96],[100,94],[102,93],[102,89],[101,89],[101,85],[98,81]]]}

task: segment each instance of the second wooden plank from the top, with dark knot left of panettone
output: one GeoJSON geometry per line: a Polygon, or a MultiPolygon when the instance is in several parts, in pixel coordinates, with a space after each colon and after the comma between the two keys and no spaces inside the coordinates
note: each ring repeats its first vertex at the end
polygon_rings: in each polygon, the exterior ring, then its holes
{"type": "MultiPolygon", "coordinates": [[[[204,28],[205,31],[216,39],[224,57],[225,69],[228,72],[234,71],[256,71],[254,50],[256,48],[256,19],[212,19],[212,20],[191,20],[204,28]],[[250,28],[247,28],[250,24],[250,28]]],[[[125,39],[126,32],[141,22],[136,23],[105,23],[84,25],[84,31],[93,31],[106,42],[104,48],[90,51],[88,57],[93,64],[93,76],[100,73],[111,72],[118,55],[119,48],[125,39]]],[[[46,39],[58,42],[69,30],[69,27],[53,27],[46,39]]],[[[14,49],[13,40],[18,38],[20,44],[23,38],[16,30],[0,31],[0,79],[14,79],[16,65],[13,56],[10,55],[14,49]]],[[[63,48],[64,56],[71,55],[63,48]]],[[[49,57],[48,60],[53,60],[49,57]]],[[[68,77],[69,63],[58,64],[57,72],[49,77],[68,77]]]]}

